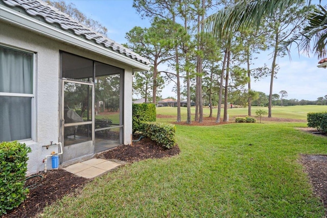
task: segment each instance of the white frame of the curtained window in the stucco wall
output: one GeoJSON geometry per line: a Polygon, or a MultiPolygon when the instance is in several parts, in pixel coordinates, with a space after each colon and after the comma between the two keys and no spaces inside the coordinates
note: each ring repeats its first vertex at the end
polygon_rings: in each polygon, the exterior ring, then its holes
{"type": "Polygon", "coordinates": [[[35,100],[35,93],[36,93],[36,59],[37,59],[37,53],[24,50],[24,49],[19,49],[14,46],[10,45],[5,45],[1,44],[3,47],[7,47],[8,49],[13,49],[13,50],[18,50],[21,52],[25,53],[30,53],[33,55],[33,93],[32,94],[25,94],[25,93],[14,93],[14,92],[0,92],[0,96],[15,96],[15,97],[30,97],[31,98],[31,138],[26,138],[26,139],[21,139],[17,141],[24,141],[24,142],[29,142],[29,141],[36,141],[36,100],[35,100]]]}

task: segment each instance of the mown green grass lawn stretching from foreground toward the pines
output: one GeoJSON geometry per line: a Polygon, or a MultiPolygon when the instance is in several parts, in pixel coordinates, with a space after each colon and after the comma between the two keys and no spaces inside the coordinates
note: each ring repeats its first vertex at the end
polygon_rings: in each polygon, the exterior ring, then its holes
{"type": "Polygon", "coordinates": [[[306,123],[177,125],[178,156],[127,164],[42,217],[323,217],[298,159],[326,154],[327,139],[296,127],[306,123]]]}

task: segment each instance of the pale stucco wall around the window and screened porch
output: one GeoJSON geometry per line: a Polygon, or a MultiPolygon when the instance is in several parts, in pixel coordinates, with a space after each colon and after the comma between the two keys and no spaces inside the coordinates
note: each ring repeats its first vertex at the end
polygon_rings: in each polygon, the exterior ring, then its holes
{"type": "MultiPolygon", "coordinates": [[[[58,142],[59,138],[59,51],[65,51],[86,58],[97,60],[125,69],[124,76],[124,144],[130,144],[132,133],[132,70],[122,63],[106,57],[92,54],[78,47],[64,44],[47,37],[36,35],[25,29],[8,23],[0,22],[0,44],[16,47],[17,49],[34,52],[35,66],[35,137],[33,141],[25,143],[31,147],[29,154],[28,174],[42,171],[42,160],[45,155],[57,151],[55,147],[45,149],[44,145],[50,141],[58,142]]],[[[51,169],[51,158],[48,160],[48,169],[51,169]]]]}

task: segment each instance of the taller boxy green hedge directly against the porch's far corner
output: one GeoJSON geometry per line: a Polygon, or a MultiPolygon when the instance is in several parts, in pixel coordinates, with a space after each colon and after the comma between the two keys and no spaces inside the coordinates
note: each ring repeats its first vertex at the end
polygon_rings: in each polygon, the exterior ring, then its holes
{"type": "Polygon", "coordinates": [[[156,110],[154,104],[133,104],[132,105],[132,131],[133,134],[136,131],[143,132],[143,125],[141,122],[154,122],[156,120],[156,110]]]}

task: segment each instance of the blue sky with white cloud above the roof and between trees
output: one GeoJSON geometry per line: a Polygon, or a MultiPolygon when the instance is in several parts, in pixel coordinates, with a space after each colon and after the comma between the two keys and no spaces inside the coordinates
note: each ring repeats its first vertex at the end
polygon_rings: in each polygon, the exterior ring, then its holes
{"type": "MultiPolygon", "coordinates": [[[[147,19],[142,19],[132,7],[132,0],[66,0],[73,3],[81,12],[100,21],[108,28],[108,37],[118,43],[126,43],[125,34],[133,27],[149,27],[147,19]]],[[[317,98],[327,94],[327,69],[318,68],[318,58],[311,55],[298,55],[297,49],[291,51],[289,57],[279,58],[280,69],[277,73],[277,79],[273,82],[273,93],[281,90],[288,92],[286,99],[297,100],[317,100],[317,98]]],[[[262,53],[258,64],[267,63],[271,65],[268,53],[262,53]]],[[[176,96],[172,92],[173,84],[166,86],[161,95],[176,96]]],[[[252,82],[252,89],[269,94],[270,77],[258,82],[252,82]]]]}

